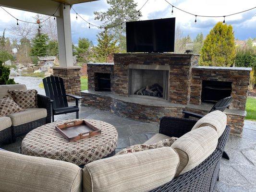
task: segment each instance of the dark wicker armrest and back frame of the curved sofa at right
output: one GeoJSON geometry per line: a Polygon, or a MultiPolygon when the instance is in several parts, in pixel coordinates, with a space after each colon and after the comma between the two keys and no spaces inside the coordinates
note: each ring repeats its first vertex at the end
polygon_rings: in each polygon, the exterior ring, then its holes
{"type": "MultiPolygon", "coordinates": [[[[181,137],[191,131],[195,123],[196,120],[163,117],[160,120],[159,133],[181,137]]],[[[219,180],[220,158],[229,133],[230,128],[226,126],[219,137],[216,150],[200,165],[151,192],[213,192],[215,183],[219,180]]]]}

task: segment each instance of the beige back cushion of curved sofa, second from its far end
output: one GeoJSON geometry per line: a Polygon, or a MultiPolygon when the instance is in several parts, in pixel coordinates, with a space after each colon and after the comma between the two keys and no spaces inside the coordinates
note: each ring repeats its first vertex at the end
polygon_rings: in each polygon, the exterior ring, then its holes
{"type": "Polygon", "coordinates": [[[200,127],[184,134],[172,145],[180,157],[176,176],[186,173],[202,163],[216,149],[218,134],[210,127],[200,127]]]}

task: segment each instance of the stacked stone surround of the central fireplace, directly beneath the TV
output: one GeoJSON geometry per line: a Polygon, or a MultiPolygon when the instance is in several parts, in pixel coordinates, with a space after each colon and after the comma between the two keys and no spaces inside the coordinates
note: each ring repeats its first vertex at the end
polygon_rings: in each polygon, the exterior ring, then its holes
{"type": "Polygon", "coordinates": [[[115,54],[114,78],[111,91],[119,96],[129,95],[129,65],[169,66],[169,94],[171,103],[188,104],[191,67],[197,65],[199,56],[193,54],[115,54]]]}

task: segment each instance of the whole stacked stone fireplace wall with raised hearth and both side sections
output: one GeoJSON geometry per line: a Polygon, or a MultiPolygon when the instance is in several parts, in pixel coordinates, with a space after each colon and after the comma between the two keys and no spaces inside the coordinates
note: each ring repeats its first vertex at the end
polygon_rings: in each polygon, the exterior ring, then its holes
{"type": "Polygon", "coordinates": [[[198,67],[198,59],[192,54],[115,54],[114,65],[88,64],[88,91],[82,92],[82,104],[144,122],[159,122],[163,116],[183,117],[183,110],[205,115],[212,105],[201,104],[202,81],[227,81],[232,82],[233,97],[230,109],[225,111],[228,125],[232,133],[241,135],[251,69],[198,67]],[[141,103],[139,98],[128,97],[130,64],[169,66],[168,99],[158,105],[154,100],[141,103]],[[111,74],[111,93],[97,92],[98,72],[111,74]]]}

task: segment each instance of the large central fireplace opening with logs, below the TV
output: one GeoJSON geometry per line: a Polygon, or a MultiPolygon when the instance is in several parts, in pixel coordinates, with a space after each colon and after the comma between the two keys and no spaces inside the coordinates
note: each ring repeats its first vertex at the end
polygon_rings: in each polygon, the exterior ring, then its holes
{"type": "Polygon", "coordinates": [[[169,71],[130,69],[130,95],[167,99],[169,71]]]}

